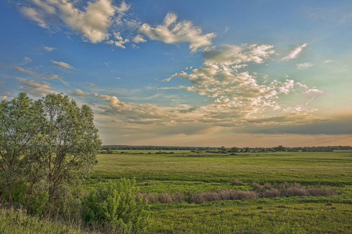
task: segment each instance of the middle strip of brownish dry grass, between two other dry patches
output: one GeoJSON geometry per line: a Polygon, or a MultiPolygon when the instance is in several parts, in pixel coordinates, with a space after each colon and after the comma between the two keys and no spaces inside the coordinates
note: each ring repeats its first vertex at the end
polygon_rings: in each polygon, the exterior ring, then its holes
{"type": "Polygon", "coordinates": [[[235,200],[235,199],[254,199],[258,198],[258,194],[253,191],[240,191],[224,189],[215,192],[202,192],[195,194],[191,201],[195,203],[220,201],[220,200],[235,200]]]}

